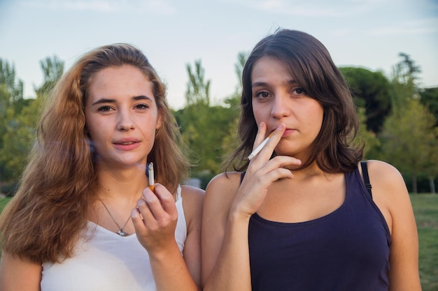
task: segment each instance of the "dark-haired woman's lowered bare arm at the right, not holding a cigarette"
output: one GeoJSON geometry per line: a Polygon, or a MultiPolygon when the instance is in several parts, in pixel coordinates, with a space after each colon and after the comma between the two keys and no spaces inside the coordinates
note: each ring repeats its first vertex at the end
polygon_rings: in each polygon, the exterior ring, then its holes
{"type": "Polygon", "coordinates": [[[400,172],[381,161],[368,161],[373,199],[391,232],[389,290],[421,290],[418,274],[418,232],[414,211],[400,172]]]}

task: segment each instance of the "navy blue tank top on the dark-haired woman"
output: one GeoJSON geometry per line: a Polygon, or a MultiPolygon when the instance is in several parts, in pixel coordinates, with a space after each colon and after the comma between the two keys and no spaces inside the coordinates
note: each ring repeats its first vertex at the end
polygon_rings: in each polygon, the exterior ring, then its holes
{"type": "Polygon", "coordinates": [[[253,291],[387,291],[390,232],[355,169],[331,214],[302,223],[249,223],[253,291]]]}

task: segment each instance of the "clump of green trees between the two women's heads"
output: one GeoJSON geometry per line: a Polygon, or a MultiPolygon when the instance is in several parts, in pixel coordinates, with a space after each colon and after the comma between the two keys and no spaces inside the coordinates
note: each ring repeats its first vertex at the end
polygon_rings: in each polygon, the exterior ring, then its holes
{"type": "MultiPolygon", "coordinates": [[[[245,61],[246,54],[240,53],[235,66],[239,80],[245,61]]],[[[239,118],[241,84],[236,87],[235,94],[225,99],[225,105],[211,105],[211,82],[205,80],[201,61],[195,61],[194,68],[188,65],[187,72],[186,105],[176,112],[176,120],[181,126],[186,144],[198,161],[192,169],[193,175],[207,177],[209,180],[219,172],[220,164],[229,149],[223,146],[228,144],[230,133],[236,131],[234,124],[239,118]]]]}

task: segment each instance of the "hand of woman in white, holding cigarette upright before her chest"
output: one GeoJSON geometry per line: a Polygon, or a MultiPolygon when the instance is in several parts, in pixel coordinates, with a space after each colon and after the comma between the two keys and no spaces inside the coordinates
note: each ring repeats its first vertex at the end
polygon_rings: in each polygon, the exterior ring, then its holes
{"type": "Polygon", "coordinates": [[[137,239],[148,253],[164,251],[175,245],[175,228],[178,220],[174,196],[161,184],[155,184],[154,192],[143,189],[143,197],[132,210],[137,239]]]}

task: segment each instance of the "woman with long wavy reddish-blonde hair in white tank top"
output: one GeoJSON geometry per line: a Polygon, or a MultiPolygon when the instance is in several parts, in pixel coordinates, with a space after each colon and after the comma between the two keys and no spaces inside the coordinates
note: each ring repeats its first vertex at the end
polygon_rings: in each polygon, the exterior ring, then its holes
{"type": "Polygon", "coordinates": [[[1,214],[2,291],[199,290],[203,191],[179,184],[188,161],[140,50],[106,45],[78,59],[37,137],[1,214]]]}

